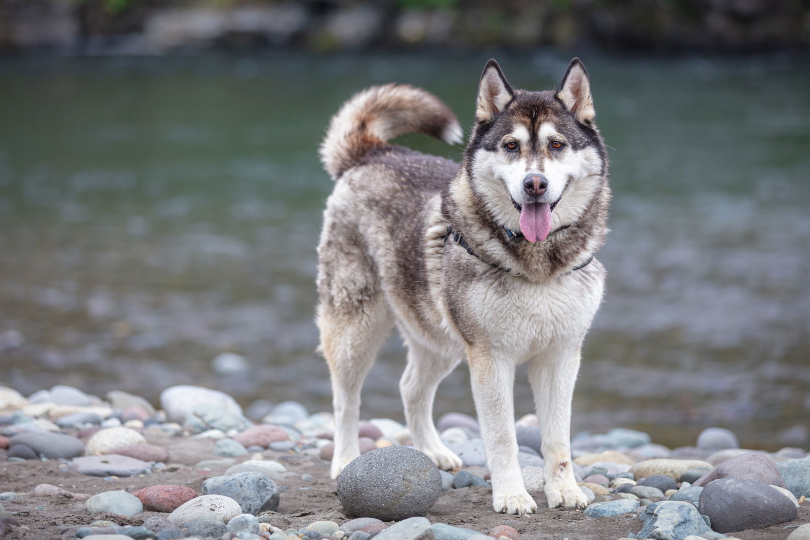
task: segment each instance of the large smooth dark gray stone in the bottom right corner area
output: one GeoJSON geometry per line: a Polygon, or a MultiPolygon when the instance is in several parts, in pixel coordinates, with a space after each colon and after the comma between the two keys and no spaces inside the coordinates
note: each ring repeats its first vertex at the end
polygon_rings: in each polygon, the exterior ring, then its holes
{"type": "Polygon", "coordinates": [[[710,482],[701,493],[700,509],[718,533],[761,529],[798,515],[786,495],[762,482],[742,478],[710,482]]]}

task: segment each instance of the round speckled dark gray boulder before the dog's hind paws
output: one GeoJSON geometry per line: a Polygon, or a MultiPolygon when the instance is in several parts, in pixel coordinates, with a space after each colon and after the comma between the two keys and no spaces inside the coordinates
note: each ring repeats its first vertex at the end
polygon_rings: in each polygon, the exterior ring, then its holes
{"type": "Polygon", "coordinates": [[[367,452],[346,465],[338,477],[338,498],[351,516],[382,521],[420,516],[440,494],[441,474],[433,461],[402,446],[367,452]]]}

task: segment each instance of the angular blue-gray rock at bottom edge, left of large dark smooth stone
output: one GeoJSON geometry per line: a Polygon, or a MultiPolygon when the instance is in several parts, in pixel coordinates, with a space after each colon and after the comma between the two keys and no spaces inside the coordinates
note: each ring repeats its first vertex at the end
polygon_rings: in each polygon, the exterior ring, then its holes
{"type": "Polygon", "coordinates": [[[681,540],[690,534],[701,536],[711,531],[697,508],[685,501],[662,500],[648,504],[639,517],[644,520],[644,527],[637,538],[681,540]]]}

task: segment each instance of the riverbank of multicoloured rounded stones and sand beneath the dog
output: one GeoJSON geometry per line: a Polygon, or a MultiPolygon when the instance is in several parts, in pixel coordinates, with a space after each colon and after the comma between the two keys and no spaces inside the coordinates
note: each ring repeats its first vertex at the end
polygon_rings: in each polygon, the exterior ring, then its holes
{"type": "Polygon", "coordinates": [[[410,499],[396,490],[412,489],[380,465],[386,452],[399,466],[424,465],[390,419],[361,424],[360,448],[373,457],[353,462],[361,485],[341,478],[336,493],[331,415],[296,402],[243,411],[222,392],[180,386],[155,409],[126,392],[101,399],[57,386],[26,398],[0,388],[0,538],[810,538],[810,457],[801,448],[740,449],[722,428],[673,449],[640,431],[582,433],[572,440],[574,470],[589,505],[549,510],[536,418],[527,415],[516,423],[519,459],[539,511],[506,516],[492,512],[475,419],[445,414],[438,427],[463,469],[433,478],[426,468],[413,506],[382,515],[369,493],[401,502],[410,499]],[[384,474],[394,481],[377,482],[384,474]]]}

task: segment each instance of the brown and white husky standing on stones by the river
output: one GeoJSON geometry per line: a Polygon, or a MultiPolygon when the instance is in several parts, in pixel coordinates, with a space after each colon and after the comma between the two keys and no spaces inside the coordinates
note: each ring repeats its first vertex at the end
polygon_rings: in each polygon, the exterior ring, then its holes
{"type": "Polygon", "coordinates": [[[337,478],[360,455],[360,387],[396,326],[399,383],[416,449],[441,469],[433,399],[466,358],[496,512],[535,512],[514,426],[515,367],[528,363],[549,508],[584,508],[571,465],[571,399],[580,349],[603,296],[594,256],[608,232],[608,156],[590,79],[574,58],[553,91],[514,88],[490,60],[475,126],[457,164],[387,143],[419,132],[460,143],[436,96],[369,88],[332,118],[320,155],[335,180],[318,245],[319,351],[331,375],[337,478]]]}

